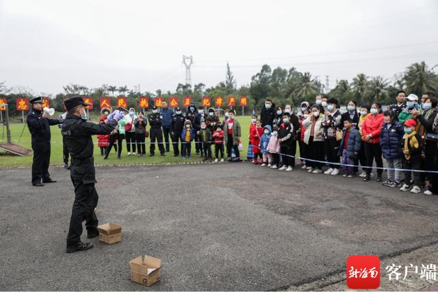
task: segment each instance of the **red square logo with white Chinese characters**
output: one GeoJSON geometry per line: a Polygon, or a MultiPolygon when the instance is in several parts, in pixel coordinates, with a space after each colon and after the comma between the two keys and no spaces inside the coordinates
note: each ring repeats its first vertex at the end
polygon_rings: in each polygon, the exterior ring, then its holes
{"type": "Polygon", "coordinates": [[[348,256],[347,286],[350,289],[377,289],[381,284],[378,256],[348,256]]]}

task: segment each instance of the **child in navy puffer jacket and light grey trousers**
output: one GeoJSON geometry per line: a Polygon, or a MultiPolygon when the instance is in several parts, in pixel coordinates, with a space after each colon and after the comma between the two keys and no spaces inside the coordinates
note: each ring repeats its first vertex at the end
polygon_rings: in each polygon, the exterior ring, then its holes
{"type": "Polygon", "coordinates": [[[402,150],[400,144],[404,135],[403,126],[394,120],[394,111],[383,113],[384,124],[381,131],[381,149],[387,163],[387,180],[383,185],[400,187],[402,180],[402,150]],[[395,169],[395,170],[394,170],[395,169]]]}

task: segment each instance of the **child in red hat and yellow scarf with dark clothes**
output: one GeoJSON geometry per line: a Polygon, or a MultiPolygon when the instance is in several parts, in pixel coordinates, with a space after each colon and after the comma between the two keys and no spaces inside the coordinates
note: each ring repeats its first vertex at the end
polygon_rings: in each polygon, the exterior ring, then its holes
{"type": "MultiPolygon", "coordinates": [[[[415,131],[417,122],[413,119],[404,122],[404,136],[402,140],[402,149],[404,154],[404,184],[400,191],[409,191],[411,189],[411,171],[420,170],[421,168],[421,153],[422,153],[422,137],[415,131]]],[[[411,193],[420,193],[421,174],[413,172],[413,187],[411,193]]]]}

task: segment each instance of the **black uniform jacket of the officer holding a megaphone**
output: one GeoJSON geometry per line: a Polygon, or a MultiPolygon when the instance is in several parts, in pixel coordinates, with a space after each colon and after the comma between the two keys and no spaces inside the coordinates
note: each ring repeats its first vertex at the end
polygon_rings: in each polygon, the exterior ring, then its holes
{"type": "Polygon", "coordinates": [[[54,124],[60,124],[60,120],[42,118],[42,111],[32,109],[27,114],[27,127],[29,128],[32,142],[50,142],[50,127],[54,124]]]}

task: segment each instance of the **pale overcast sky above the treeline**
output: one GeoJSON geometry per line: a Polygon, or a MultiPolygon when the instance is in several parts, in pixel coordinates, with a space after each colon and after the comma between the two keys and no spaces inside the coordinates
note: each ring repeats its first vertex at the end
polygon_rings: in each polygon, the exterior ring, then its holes
{"type": "Polygon", "coordinates": [[[0,81],[56,94],[62,85],[237,84],[263,64],[324,79],[391,78],[413,62],[438,64],[438,1],[0,0],[0,81]]]}

